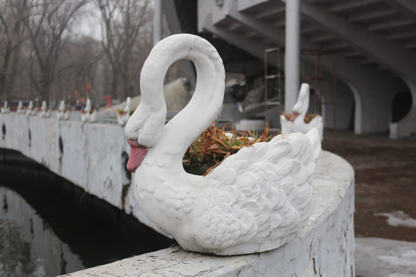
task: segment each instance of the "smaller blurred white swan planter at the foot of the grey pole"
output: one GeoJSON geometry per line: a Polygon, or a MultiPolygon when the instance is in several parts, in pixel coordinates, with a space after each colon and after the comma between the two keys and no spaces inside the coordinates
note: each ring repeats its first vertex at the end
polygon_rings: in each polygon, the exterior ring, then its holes
{"type": "Polygon", "coordinates": [[[305,123],[305,115],[309,108],[309,84],[302,83],[300,86],[297,102],[292,108],[292,117],[290,120],[285,115],[280,115],[280,127],[282,133],[287,135],[294,132],[309,132],[314,127],[318,129],[319,138],[324,139],[324,122],[322,116],[315,116],[309,123],[305,123]]]}

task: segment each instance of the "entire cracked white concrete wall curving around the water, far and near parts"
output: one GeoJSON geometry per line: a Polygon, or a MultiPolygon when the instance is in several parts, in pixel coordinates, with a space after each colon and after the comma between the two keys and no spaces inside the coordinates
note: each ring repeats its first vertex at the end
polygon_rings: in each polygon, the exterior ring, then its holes
{"type": "MultiPolygon", "coordinates": [[[[123,127],[15,113],[0,115],[3,124],[6,134],[0,139],[0,147],[22,152],[155,229],[137,205],[134,185],[129,185],[123,175],[122,154],[130,151],[123,127]],[[125,194],[123,186],[128,186],[125,194]]],[[[313,188],[316,207],[310,223],[275,250],[216,257],[177,246],[64,276],[354,276],[354,170],[341,157],[324,151],[313,188]]]]}

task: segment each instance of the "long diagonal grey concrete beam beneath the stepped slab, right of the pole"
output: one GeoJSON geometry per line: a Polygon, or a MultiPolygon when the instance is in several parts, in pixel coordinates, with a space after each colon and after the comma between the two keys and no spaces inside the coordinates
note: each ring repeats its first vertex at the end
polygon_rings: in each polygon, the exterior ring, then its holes
{"type": "MultiPolygon", "coordinates": [[[[286,0],[280,0],[287,2],[286,0]]],[[[359,2],[367,0],[360,0],[359,2]]],[[[351,1],[339,5],[351,4],[351,1]]],[[[358,5],[358,2],[356,3],[358,5]]],[[[307,20],[319,25],[322,29],[362,51],[379,64],[396,74],[416,80],[416,53],[407,50],[400,44],[388,41],[379,33],[368,33],[365,28],[350,24],[344,18],[330,14],[322,7],[302,1],[300,10],[307,20]]]]}

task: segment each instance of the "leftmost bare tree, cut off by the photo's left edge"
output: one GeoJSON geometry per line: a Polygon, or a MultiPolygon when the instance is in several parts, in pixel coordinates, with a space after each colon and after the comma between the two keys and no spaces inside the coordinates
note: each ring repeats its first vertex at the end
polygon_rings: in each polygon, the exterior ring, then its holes
{"type": "Polygon", "coordinates": [[[0,96],[11,96],[17,73],[20,48],[27,39],[24,21],[29,15],[32,1],[5,0],[0,2],[0,96]]]}

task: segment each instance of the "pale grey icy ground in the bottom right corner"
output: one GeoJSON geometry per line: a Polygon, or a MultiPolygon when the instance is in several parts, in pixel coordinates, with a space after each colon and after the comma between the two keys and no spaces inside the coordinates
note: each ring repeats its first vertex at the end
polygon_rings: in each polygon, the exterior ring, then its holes
{"type": "Polygon", "coordinates": [[[356,238],[357,276],[416,276],[416,243],[385,238],[356,238]]]}

